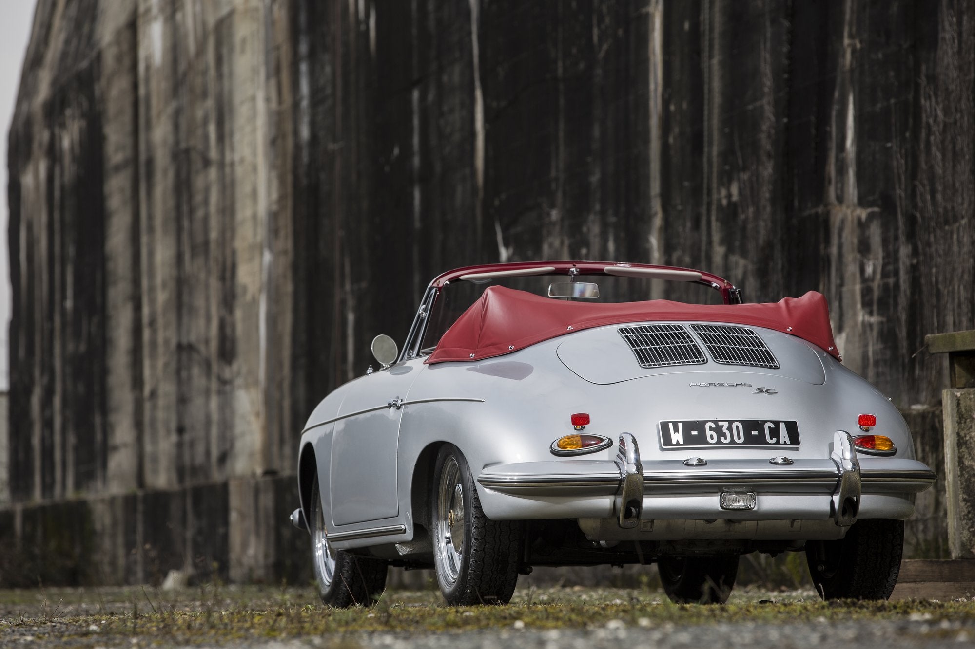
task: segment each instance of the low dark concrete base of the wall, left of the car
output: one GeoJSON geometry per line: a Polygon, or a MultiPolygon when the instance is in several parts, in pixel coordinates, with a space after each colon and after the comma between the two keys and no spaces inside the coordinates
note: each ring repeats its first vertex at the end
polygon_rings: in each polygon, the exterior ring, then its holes
{"type": "Polygon", "coordinates": [[[15,505],[0,512],[0,584],[158,586],[171,570],[305,584],[308,535],[280,524],[296,498],[292,477],[261,477],[15,505]]]}

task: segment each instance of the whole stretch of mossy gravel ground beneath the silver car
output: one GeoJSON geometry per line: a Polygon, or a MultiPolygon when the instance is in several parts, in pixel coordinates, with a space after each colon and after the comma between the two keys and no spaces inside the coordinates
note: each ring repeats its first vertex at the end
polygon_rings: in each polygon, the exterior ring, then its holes
{"type": "Polygon", "coordinates": [[[0,591],[0,646],[14,647],[958,647],[975,601],[824,603],[813,592],[736,591],[726,606],[660,592],[550,588],[510,606],[452,608],[435,592],[387,592],[372,609],[321,607],[308,589],[0,591]]]}

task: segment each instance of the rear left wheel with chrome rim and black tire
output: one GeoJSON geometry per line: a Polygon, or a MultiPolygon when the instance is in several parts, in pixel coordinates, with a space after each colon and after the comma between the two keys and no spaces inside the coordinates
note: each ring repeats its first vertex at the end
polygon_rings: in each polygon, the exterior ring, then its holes
{"type": "Polygon", "coordinates": [[[507,604],[518,583],[521,525],[484,514],[467,460],[452,444],[437,454],[430,484],[434,566],[447,603],[507,604]]]}

